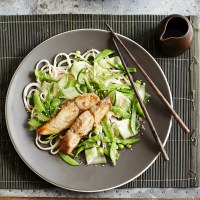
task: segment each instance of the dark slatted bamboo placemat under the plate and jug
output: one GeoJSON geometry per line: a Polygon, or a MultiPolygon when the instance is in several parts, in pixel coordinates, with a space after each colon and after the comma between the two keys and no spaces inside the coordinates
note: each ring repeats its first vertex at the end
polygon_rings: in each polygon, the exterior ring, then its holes
{"type": "MultiPolygon", "coordinates": [[[[197,32],[194,43],[183,55],[163,57],[154,46],[153,34],[164,16],[37,15],[0,16],[0,188],[37,189],[55,187],[35,175],[19,158],[11,144],[5,124],[5,98],[9,82],[23,58],[38,44],[58,33],[82,28],[113,29],[148,50],[164,71],[173,96],[174,108],[192,133],[186,135],[173,121],[166,151],[140,177],[121,188],[194,187],[197,179],[198,90],[197,32]]],[[[195,19],[195,18],[192,18],[195,19]]],[[[22,77],[23,78],[23,77],[22,77]]]]}

